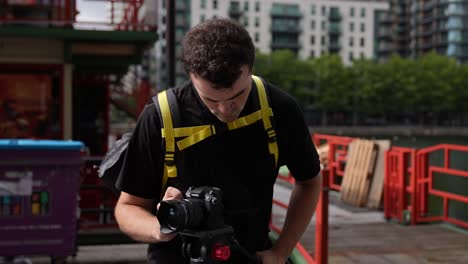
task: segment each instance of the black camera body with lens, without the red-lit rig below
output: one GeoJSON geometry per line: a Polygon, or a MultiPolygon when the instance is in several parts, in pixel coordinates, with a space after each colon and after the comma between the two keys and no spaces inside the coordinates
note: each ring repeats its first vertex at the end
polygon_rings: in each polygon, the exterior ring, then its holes
{"type": "Polygon", "coordinates": [[[162,201],[157,217],[164,234],[223,227],[222,192],[216,187],[190,187],[184,199],[162,201]]]}

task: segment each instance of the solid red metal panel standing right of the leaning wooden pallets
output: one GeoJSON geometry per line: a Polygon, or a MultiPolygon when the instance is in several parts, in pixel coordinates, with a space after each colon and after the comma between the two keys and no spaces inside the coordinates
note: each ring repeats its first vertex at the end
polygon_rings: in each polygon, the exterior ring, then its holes
{"type": "MultiPolygon", "coordinates": [[[[414,215],[415,157],[416,150],[411,148],[392,147],[385,152],[384,215],[387,219],[396,218],[406,223],[405,211],[414,215]],[[408,194],[411,202],[407,199],[408,194]]],[[[411,217],[411,224],[415,224],[414,217],[411,217]]]]}

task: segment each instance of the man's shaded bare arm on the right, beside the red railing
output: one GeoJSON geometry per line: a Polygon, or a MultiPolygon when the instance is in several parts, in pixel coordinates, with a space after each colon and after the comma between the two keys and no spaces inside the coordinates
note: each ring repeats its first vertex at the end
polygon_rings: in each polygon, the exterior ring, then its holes
{"type": "Polygon", "coordinates": [[[286,261],[315,212],[321,187],[321,173],[310,180],[296,181],[289,200],[283,231],[271,250],[260,253],[263,255],[263,263],[283,264],[286,261]]]}

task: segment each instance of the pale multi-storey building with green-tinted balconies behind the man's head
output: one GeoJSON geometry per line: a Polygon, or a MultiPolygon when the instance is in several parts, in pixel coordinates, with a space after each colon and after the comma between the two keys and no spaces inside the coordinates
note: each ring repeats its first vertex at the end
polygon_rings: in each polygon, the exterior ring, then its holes
{"type": "MultiPolygon", "coordinates": [[[[339,54],[345,64],[378,55],[377,14],[388,11],[378,0],[178,0],[176,1],[176,56],[185,32],[214,17],[229,17],[250,33],[260,52],[288,49],[299,58],[339,54]]],[[[158,3],[159,41],[155,47],[157,80],[167,87],[166,7],[158,3]]],[[[176,62],[176,84],[186,79],[176,62]]]]}

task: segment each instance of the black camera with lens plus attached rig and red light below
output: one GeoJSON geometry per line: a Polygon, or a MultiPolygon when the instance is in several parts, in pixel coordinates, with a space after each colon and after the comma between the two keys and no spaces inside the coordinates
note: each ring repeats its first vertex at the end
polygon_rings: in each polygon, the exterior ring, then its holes
{"type": "Polygon", "coordinates": [[[245,257],[241,263],[258,263],[235,239],[234,229],[224,224],[222,191],[216,187],[190,187],[182,200],[166,200],[157,217],[161,233],[178,232],[181,253],[190,264],[219,264],[231,258],[231,249],[245,257]]]}

